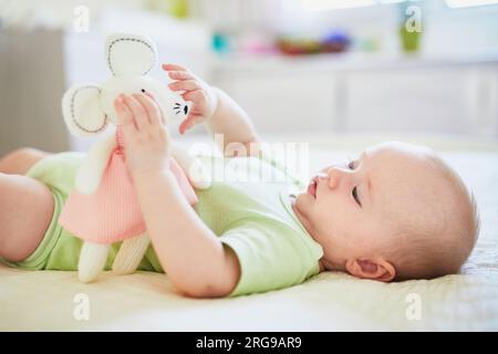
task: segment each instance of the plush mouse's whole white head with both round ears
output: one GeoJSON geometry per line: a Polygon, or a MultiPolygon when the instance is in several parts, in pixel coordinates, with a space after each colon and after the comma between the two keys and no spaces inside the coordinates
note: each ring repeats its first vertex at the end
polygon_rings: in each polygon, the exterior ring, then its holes
{"type": "Polygon", "coordinates": [[[62,98],[64,121],[76,136],[92,136],[117,123],[114,100],[124,93],[149,93],[160,105],[166,123],[183,119],[188,104],[166,83],[148,75],[157,62],[157,50],[149,39],[134,34],[108,35],[106,63],[112,74],[102,85],[74,85],[62,98]]]}

